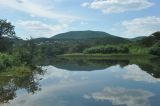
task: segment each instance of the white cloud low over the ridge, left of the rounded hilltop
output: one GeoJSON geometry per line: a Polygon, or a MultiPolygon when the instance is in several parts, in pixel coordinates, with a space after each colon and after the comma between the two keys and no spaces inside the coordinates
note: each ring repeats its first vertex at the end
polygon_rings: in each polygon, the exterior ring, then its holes
{"type": "Polygon", "coordinates": [[[41,21],[18,21],[17,25],[27,31],[32,37],[51,37],[69,28],[69,23],[58,23],[56,25],[45,24],[41,21]]]}

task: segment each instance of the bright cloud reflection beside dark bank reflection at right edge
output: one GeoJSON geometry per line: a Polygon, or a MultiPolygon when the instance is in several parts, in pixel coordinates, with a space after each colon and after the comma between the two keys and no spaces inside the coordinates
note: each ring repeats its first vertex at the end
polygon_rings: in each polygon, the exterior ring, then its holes
{"type": "Polygon", "coordinates": [[[124,67],[124,69],[126,70],[125,73],[122,75],[124,79],[129,79],[134,81],[144,81],[149,83],[156,83],[160,81],[160,79],[154,78],[152,75],[143,71],[137,65],[128,65],[124,67]]]}

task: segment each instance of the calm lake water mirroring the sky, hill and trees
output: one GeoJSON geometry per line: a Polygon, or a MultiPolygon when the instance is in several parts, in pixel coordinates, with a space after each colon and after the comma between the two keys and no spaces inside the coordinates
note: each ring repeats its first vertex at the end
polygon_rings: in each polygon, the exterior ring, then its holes
{"type": "Polygon", "coordinates": [[[159,63],[54,59],[43,64],[43,72],[0,78],[0,106],[159,106],[159,63]]]}

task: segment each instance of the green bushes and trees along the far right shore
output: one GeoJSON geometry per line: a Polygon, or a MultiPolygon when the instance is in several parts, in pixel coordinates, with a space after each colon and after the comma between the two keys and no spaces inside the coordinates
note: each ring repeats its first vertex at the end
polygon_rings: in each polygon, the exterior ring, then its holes
{"type": "MultiPolygon", "coordinates": [[[[67,52],[65,54],[70,54],[70,56],[75,56],[76,53],[85,54],[137,54],[137,55],[156,55],[159,56],[159,42],[160,42],[160,32],[155,32],[148,37],[138,37],[135,38],[133,42],[120,44],[111,43],[93,43],[86,48],[84,47],[83,52],[67,52]]],[[[103,40],[102,40],[103,41],[103,40]]],[[[111,40],[113,41],[113,40],[111,40]]],[[[113,41],[114,42],[114,41],[113,41]]],[[[70,46],[72,47],[72,46],[70,46]]],[[[65,55],[66,56],[66,55],[65,55]]],[[[68,56],[68,55],[67,55],[68,56]]],[[[85,55],[86,56],[86,55],[85,55]]],[[[97,55],[96,55],[97,56],[97,55]]],[[[101,55],[99,55],[101,56],[101,55]]]]}

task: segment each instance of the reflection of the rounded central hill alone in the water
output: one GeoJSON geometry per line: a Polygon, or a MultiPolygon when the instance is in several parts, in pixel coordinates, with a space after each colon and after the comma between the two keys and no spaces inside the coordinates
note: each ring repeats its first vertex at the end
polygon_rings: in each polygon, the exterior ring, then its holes
{"type": "Polygon", "coordinates": [[[129,63],[128,60],[86,60],[86,59],[56,59],[52,61],[52,65],[69,70],[69,71],[93,71],[102,70],[107,67],[117,65],[125,66],[129,63]]]}

